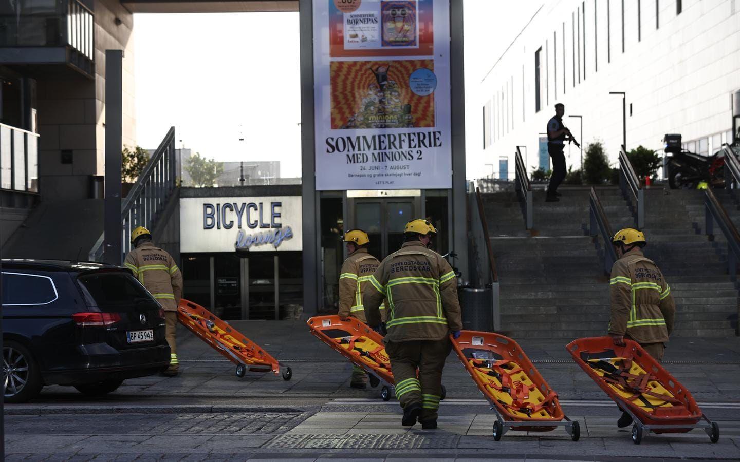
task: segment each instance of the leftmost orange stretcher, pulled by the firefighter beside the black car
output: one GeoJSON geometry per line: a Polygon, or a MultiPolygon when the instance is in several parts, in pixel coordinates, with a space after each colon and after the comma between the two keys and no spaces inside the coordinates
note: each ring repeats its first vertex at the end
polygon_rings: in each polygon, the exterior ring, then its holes
{"type": "MultiPolygon", "coordinates": [[[[201,305],[181,299],[178,305],[178,321],[236,364],[237,377],[242,378],[247,370],[272,372],[276,376],[280,374],[277,359],[201,305]]],[[[283,379],[290,380],[292,376],[291,368],[285,367],[283,379]]]]}

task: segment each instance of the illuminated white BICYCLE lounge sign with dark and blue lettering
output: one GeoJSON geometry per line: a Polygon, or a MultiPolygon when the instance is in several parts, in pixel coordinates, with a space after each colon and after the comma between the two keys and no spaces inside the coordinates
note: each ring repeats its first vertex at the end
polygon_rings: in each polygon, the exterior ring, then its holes
{"type": "Polygon", "coordinates": [[[298,196],[183,197],[181,252],[300,251],[298,196]]]}

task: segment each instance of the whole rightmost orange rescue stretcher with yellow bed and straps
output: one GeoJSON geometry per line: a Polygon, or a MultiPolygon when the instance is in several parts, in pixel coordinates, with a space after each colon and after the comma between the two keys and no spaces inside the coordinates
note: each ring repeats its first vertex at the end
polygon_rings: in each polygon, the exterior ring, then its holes
{"type": "Polygon", "coordinates": [[[719,440],[719,425],[699,409],[693,396],[637,342],[615,345],[611,337],[576,339],[566,347],[573,359],[632,416],[632,441],[640,444],[645,432],[685,433],[701,428],[710,440],[719,440]],[[701,421],[704,422],[701,422],[701,421]]]}

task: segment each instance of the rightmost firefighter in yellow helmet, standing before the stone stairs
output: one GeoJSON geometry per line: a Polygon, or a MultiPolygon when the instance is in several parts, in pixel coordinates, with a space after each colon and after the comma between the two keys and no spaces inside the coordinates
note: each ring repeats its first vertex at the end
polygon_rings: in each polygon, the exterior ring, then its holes
{"type": "MultiPolygon", "coordinates": [[[[633,340],[661,361],[676,316],[670,287],[655,262],[642,254],[647,245],[642,231],[617,231],[612,244],[619,259],[611,267],[609,335],[617,345],[624,344],[625,338],[633,340]]],[[[632,418],[622,412],[617,426],[630,424],[632,418]]]]}

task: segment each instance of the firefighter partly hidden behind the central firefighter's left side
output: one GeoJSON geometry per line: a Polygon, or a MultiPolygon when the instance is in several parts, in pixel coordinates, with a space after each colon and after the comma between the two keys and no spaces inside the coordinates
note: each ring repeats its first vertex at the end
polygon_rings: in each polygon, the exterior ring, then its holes
{"type": "MultiPolygon", "coordinates": [[[[352,229],[344,235],[343,242],[347,243],[347,257],[342,265],[339,276],[339,312],[337,313],[343,321],[349,316],[367,322],[365,310],[363,309],[363,293],[370,287],[370,276],[375,272],[380,262],[368,253],[370,238],[361,229],[352,229]]],[[[381,305],[381,314],[385,321],[386,316],[381,305]]],[[[352,377],[349,386],[352,388],[367,387],[368,375],[358,366],[352,367],[352,377]]],[[[371,387],[377,387],[380,383],[375,376],[370,376],[371,387]]]]}

